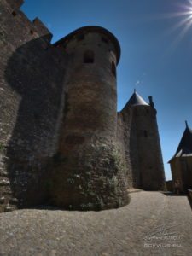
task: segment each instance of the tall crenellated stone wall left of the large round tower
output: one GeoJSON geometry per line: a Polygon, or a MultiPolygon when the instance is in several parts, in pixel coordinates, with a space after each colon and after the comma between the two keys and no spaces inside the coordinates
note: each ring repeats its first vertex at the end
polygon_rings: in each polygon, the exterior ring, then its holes
{"type": "Polygon", "coordinates": [[[0,3],[0,212],[43,201],[62,116],[67,57],[21,3],[0,3]]]}

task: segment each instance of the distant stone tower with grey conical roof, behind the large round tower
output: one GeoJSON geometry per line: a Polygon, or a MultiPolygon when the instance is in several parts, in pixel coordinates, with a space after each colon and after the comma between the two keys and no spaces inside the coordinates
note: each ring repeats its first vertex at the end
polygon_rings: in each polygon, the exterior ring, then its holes
{"type": "MultiPolygon", "coordinates": [[[[126,147],[130,152],[130,185],[146,190],[165,189],[157,112],[152,96],[149,96],[148,104],[135,91],[122,113],[125,123],[129,125],[129,143],[126,147]]],[[[125,138],[125,144],[126,141],[125,138]]]]}

